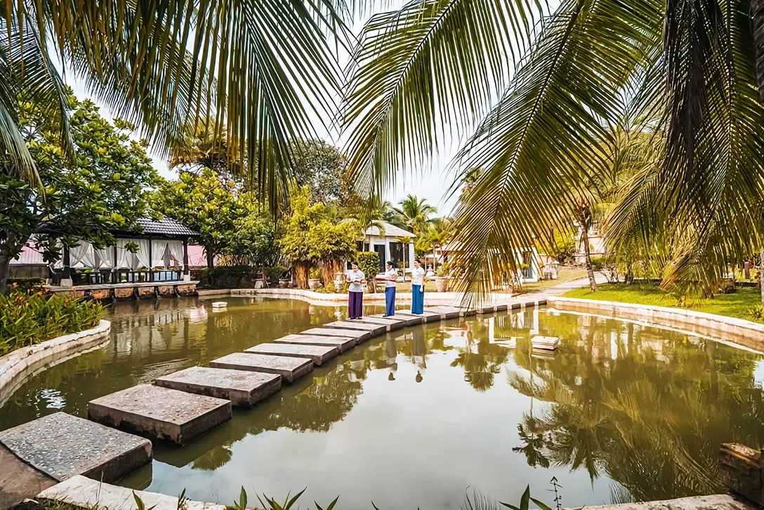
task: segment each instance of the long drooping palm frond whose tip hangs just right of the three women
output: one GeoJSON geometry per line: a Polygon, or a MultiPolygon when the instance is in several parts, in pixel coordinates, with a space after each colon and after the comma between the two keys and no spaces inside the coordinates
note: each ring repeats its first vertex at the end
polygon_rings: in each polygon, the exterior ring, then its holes
{"type": "Polygon", "coordinates": [[[609,0],[562,2],[546,22],[512,86],[458,155],[462,178],[482,170],[455,219],[466,299],[490,291],[495,271],[516,271],[516,251],[565,224],[584,188],[607,174],[605,122],[621,115],[619,91],[660,22],[657,2],[609,0]]]}

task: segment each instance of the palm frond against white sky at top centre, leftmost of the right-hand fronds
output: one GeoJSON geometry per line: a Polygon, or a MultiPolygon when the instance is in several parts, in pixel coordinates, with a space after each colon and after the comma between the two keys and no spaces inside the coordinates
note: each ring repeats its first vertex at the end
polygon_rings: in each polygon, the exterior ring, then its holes
{"type": "Polygon", "coordinates": [[[392,186],[484,112],[541,12],[529,0],[410,0],[367,22],[342,111],[361,193],[392,186]]]}

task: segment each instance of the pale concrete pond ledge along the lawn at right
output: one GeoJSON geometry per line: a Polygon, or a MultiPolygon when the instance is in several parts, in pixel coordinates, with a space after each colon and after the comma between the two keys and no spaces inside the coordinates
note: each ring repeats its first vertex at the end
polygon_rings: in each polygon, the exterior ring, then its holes
{"type": "Polygon", "coordinates": [[[713,313],[682,308],[652,307],[646,304],[597,301],[574,297],[552,297],[549,304],[557,310],[594,312],[614,319],[632,320],[647,326],[681,329],[699,336],[712,336],[756,351],[764,351],[764,324],[713,313]]]}

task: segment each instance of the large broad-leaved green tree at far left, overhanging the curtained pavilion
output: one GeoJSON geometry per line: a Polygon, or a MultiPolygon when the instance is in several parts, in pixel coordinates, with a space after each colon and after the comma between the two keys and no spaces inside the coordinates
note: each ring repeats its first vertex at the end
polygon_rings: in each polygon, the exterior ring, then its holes
{"type": "Polygon", "coordinates": [[[110,230],[139,229],[147,211],[147,189],[157,182],[146,143],[134,141],[129,122],[114,125],[90,101],[65,91],[74,158],[66,155],[60,132],[47,128],[50,112],[21,96],[16,111],[28,151],[36,162],[40,187],[21,180],[0,164],[0,292],[8,265],[32,234],[47,261],[60,258],[60,244],[81,241],[104,247],[115,242],[110,230]]]}

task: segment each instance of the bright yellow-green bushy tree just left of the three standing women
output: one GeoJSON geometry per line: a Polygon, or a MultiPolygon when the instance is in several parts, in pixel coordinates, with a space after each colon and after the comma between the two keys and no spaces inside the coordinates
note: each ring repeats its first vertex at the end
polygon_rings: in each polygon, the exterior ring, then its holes
{"type": "Polygon", "coordinates": [[[297,285],[308,287],[310,268],[322,261],[325,283],[338,268],[338,261],[355,252],[358,226],[355,222],[332,223],[323,202],[312,203],[308,187],[295,187],[290,193],[291,211],[283,219],[277,244],[292,261],[297,285]]]}

